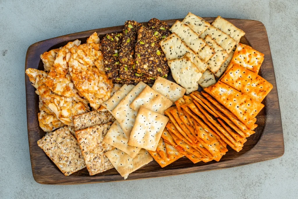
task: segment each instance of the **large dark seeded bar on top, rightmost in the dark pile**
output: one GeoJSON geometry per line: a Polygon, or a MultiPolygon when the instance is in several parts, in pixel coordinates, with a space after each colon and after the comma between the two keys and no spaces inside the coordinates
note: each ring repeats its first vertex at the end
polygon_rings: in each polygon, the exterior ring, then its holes
{"type": "MultiPolygon", "coordinates": [[[[155,31],[158,32],[158,31],[155,31]]],[[[153,78],[167,77],[167,60],[159,46],[158,33],[148,27],[141,27],[136,43],[136,70],[153,78]],[[155,35],[154,35],[155,34],[155,35]]]]}

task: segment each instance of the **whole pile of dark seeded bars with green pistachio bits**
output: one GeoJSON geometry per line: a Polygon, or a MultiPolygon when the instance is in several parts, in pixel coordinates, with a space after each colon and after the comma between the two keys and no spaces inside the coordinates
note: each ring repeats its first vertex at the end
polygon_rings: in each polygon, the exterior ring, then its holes
{"type": "Polygon", "coordinates": [[[103,38],[105,73],[119,84],[153,84],[159,76],[167,78],[167,59],[159,41],[169,34],[169,26],[156,18],[147,26],[126,21],[122,33],[106,34],[103,38]]]}

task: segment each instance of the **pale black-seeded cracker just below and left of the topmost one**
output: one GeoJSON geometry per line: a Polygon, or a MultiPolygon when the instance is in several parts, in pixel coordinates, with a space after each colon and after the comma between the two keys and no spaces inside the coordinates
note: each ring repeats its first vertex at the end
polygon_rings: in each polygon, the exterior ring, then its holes
{"type": "Polygon", "coordinates": [[[206,42],[195,31],[178,20],[170,28],[170,31],[176,33],[195,53],[198,53],[206,45],[206,42]]]}

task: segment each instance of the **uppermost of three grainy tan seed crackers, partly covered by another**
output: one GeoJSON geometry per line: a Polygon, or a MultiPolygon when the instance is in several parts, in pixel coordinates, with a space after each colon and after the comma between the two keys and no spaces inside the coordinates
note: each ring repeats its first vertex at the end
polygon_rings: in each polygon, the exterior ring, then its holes
{"type": "Polygon", "coordinates": [[[114,122],[115,118],[108,111],[91,111],[72,117],[72,121],[75,125],[75,130],[86,129],[99,124],[105,124],[109,121],[114,122]]]}

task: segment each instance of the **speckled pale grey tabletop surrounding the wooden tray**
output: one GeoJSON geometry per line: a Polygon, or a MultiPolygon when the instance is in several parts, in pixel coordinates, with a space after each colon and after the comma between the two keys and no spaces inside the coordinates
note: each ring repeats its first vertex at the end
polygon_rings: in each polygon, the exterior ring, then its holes
{"type": "Polygon", "coordinates": [[[297,198],[297,34],[297,0],[0,0],[0,198],[297,198]],[[36,183],[27,138],[27,48],[52,37],[122,25],[128,19],[183,18],[189,11],[202,17],[221,15],[265,24],[283,120],[283,157],[231,169],[138,181],[76,186],[36,183]]]}

